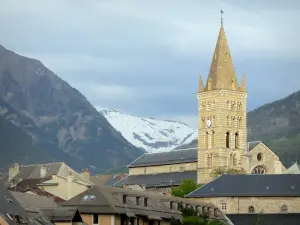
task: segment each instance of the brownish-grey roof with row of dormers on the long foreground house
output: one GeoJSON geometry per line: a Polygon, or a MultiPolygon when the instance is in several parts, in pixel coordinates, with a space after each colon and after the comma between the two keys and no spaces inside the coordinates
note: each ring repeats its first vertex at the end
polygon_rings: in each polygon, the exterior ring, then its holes
{"type": "MultiPolygon", "coordinates": [[[[122,188],[97,187],[94,186],[78,196],[62,203],[62,206],[77,206],[80,213],[99,213],[99,214],[126,214],[128,216],[147,216],[171,219],[180,219],[181,212],[176,207],[170,209],[170,202],[183,202],[191,206],[210,207],[218,210],[214,205],[199,203],[192,199],[176,198],[166,195],[157,195],[143,191],[131,191],[122,188]],[[126,195],[126,204],[123,204],[123,195],[126,195]],[[87,200],[87,196],[93,196],[87,200]],[[137,204],[139,197],[139,204],[137,204]],[[144,206],[144,199],[147,198],[148,205],[144,206]],[[86,200],[85,200],[86,199],[86,200]]],[[[214,217],[214,215],[211,215],[214,217]]],[[[219,219],[224,219],[221,213],[219,219]]]]}

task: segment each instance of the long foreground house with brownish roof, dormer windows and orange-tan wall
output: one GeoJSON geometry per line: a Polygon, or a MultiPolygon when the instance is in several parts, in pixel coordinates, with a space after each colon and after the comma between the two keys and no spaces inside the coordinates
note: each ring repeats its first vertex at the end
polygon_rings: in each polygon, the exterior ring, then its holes
{"type": "Polygon", "coordinates": [[[125,225],[128,222],[135,225],[167,225],[172,218],[181,219],[181,212],[177,208],[179,202],[207,211],[210,218],[226,220],[220,210],[212,204],[113,187],[94,186],[63,202],[61,206],[78,207],[83,221],[88,225],[125,225]]]}

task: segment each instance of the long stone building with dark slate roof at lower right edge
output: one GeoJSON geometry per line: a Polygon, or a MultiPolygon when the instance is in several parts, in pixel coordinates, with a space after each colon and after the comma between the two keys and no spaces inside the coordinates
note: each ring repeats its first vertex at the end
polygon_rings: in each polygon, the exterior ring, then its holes
{"type": "Polygon", "coordinates": [[[299,174],[224,174],[187,195],[226,214],[299,213],[299,174]]]}

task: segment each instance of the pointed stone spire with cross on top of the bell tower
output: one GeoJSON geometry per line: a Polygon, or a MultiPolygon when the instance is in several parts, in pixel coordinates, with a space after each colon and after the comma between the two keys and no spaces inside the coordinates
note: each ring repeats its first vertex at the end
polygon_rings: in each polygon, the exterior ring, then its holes
{"type": "Polygon", "coordinates": [[[206,82],[206,90],[238,90],[238,88],[239,86],[223,26],[223,10],[221,10],[221,28],[206,82]]]}

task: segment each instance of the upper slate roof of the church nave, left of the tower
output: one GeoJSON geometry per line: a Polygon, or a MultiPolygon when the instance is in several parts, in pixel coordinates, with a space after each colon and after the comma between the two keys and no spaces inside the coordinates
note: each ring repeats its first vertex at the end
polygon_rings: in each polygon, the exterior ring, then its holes
{"type": "Polygon", "coordinates": [[[173,150],[170,152],[145,153],[137,158],[129,168],[154,166],[154,165],[169,165],[197,161],[197,149],[173,150]]]}

